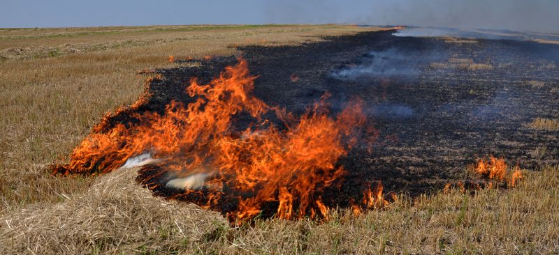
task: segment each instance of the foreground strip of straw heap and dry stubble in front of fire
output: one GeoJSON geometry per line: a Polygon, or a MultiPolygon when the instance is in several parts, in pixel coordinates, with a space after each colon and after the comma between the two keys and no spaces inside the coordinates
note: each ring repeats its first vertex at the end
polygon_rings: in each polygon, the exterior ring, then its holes
{"type": "Polygon", "coordinates": [[[551,254],[559,252],[559,168],[529,173],[514,190],[400,195],[386,210],[323,224],[256,220],[230,226],[193,205],[163,201],[136,169],[97,178],[87,192],[0,217],[4,252],[21,254],[551,254]]]}

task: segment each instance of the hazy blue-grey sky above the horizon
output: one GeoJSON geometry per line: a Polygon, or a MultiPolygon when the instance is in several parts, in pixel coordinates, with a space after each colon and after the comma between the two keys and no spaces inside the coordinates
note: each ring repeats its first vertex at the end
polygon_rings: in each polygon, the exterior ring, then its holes
{"type": "Polygon", "coordinates": [[[2,0],[0,27],[370,24],[559,32],[559,0],[2,0]]]}

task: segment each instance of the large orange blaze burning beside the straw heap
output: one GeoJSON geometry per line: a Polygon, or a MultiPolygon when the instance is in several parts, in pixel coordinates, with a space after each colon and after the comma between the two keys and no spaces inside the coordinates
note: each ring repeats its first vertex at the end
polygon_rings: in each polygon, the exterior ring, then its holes
{"type": "MultiPolygon", "coordinates": [[[[158,170],[142,183],[178,189],[177,196],[195,197],[189,201],[203,208],[233,203],[226,211],[232,221],[252,219],[270,204],[283,219],[326,218],[330,208],[321,194],[346,172],[337,161],[365,123],[363,102],[351,101],[330,116],[325,95],[297,117],[255,98],[256,78],[240,59],[209,84],[191,79],[186,92],[194,102],[188,105],[170,102],[163,114],[131,111],[134,121],[126,124],[111,125],[108,114],[73,150],[70,162],[52,166],[52,172],[108,173],[149,153],[154,160],[148,162],[158,170]],[[234,118],[240,114],[248,121],[234,118]],[[282,123],[268,121],[270,114],[282,123]],[[163,181],[152,183],[155,176],[163,181]]],[[[140,100],[119,111],[138,109],[145,103],[140,100]]],[[[369,208],[386,203],[382,185],[369,190],[363,203],[369,208]]]]}

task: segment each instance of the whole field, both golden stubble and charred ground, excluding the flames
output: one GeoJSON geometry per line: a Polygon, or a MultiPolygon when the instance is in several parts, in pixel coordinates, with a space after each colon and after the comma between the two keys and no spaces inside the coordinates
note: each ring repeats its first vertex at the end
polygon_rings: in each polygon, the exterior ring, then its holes
{"type": "MultiPolygon", "coordinates": [[[[384,30],[0,30],[0,252],[558,253],[557,46],[396,38],[384,30]],[[240,54],[260,75],[255,95],[269,105],[300,114],[326,91],[335,109],[363,97],[379,141],[372,153],[354,148],[344,157],[353,169],[344,192],[326,195],[347,201],[364,181],[382,180],[398,199],[358,216],[332,203],[340,210],[326,222],[256,219],[232,226],[212,210],[153,196],[135,182],[145,169],[50,175],[48,165],[66,162],[107,111],[131,105],[144,88],[153,96],[143,111],[188,102],[181,91],[189,77],[208,82],[240,54]],[[470,180],[469,165],[488,155],[523,169],[514,189],[442,191],[446,183],[470,180]]],[[[112,121],[128,118],[124,112],[112,121]]]]}

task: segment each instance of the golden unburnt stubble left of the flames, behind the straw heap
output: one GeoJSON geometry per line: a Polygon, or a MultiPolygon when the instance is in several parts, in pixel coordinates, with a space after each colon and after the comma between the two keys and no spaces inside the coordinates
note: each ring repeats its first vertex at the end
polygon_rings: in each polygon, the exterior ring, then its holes
{"type": "MultiPolygon", "coordinates": [[[[0,212],[59,201],[91,180],[56,180],[45,166],[71,152],[107,111],[129,105],[176,59],[240,54],[235,45],[293,45],[364,31],[353,26],[157,26],[3,29],[0,33],[0,212]],[[134,42],[134,43],[126,43],[134,42]],[[113,45],[96,47],[95,45],[113,45]],[[61,47],[78,51],[64,52],[61,47]],[[43,53],[36,53],[40,48],[43,53]],[[43,50],[46,49],[46,50],[43,50]],[[48,52],[58,51],[57,54],[48,52]],[[13,52],[22,52],[14,54],[13,52]]],[[[187,63],[188,65],[188,63],[187,63]]]]}

